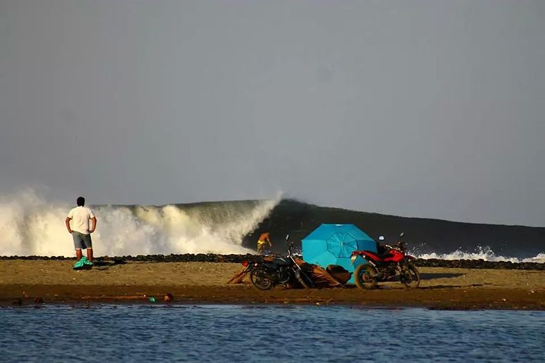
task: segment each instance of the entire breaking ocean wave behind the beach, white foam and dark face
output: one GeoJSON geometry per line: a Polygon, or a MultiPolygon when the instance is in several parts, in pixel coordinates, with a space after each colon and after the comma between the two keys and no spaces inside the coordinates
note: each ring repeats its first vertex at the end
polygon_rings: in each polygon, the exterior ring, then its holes
{"type": "MultiPolygon", "coordinates": [[[[66,201],[47,198],[34,189],[0,195],[0,256],[72,257],[72,238],[65,227],[66,214],[72,207],[66,201]]],[[[363,224],[368,233],[375,229],[380,229],[381,234],[393,233],[395,229],[396,238],[400,230],[406,230],[407,248],[416,258],[545,262],[542,244],[545,228],[432,223],[420,219],[404,219],[404,224],[398,225],[397,217],[379,218],[346,210],[330,214],[328,208],[286,201],[280,195],[264,201],[90,207],[98,219],[97,230],[92,235],[97,257],[255,253],[257,236],[252,233],[259,235],[257,229],[261,223],[266,226],[261,228],[270,228],[273,232],[274,252],[284,253],[286,234],[290,234],[295,247],[299,247],[300,239],[318,226],[315,220],[323,223],[341,220],[363,224]],[[314,214],[317,210],[322,211],[321,217],[314,214]],[[428,223],[432,223],[434,229],[425,237],[425,231],[431,226],[428,223]],[[437,227],[439,225],[441,227],[437,227]],[[463,237],[453,242],[450,240],[453,235],[463,237]]],[[[390,244],[393,241],[387,239],[390,244]]]]}

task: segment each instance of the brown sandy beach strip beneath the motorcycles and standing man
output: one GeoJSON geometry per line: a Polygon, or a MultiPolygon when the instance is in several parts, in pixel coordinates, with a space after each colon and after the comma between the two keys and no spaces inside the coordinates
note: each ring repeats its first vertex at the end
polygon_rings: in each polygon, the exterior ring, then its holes
{"type": "Polygon", "coordinates": [[[74,271],[73,260],[1,260],[0,305],[92,303],[320,304],[436,309],[545,310],[545,271],[420,267],[421,286],[399,282],[377,290],[353,285],[334,289],[285,289],[262,292],[227,281],[241,264],[221,262],[102,262],[74,271]]]}

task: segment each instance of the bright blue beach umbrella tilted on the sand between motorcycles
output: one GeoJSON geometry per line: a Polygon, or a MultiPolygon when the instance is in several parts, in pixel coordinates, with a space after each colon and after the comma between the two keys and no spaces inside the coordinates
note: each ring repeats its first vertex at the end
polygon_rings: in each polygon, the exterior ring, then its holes
{"type": "MultiPolygon", "coordinates": [[[[354,272],[357,264],[352,265],[352,251],[377,251],[377,242],[354,224],[324,223],[316,228],[301,242],[304,262],[318,264],[324,269],[328,264],[339,264],[354,272]]],[[[359,263],[364,262],[358,259],[359,263]]],[[[350,282],[353,282],[353,278],[350,282]]]]}

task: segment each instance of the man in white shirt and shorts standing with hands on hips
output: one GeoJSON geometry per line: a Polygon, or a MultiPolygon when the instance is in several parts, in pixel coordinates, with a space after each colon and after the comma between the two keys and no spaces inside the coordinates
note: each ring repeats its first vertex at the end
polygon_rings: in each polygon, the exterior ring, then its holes
{"type": "Polygon", "coordinates": [[[92,262],[91,233],[95,232],[95,228],[97,228],[97,217],[92,214],[92,210],[85,207],[85,198],[83,196],[79,196],[76,203],[78,206],[68,212],[66,228],[74,239],[74,248],[76,249],[78,261],[81,259],[81,248],[83,248],[87,250],[87,259],[92,262]],[[72,227],[74,228],[70,227],[70,221],[72,221],[72,227]],[[89,221],[92,221],[90,229],[89,221]]]}

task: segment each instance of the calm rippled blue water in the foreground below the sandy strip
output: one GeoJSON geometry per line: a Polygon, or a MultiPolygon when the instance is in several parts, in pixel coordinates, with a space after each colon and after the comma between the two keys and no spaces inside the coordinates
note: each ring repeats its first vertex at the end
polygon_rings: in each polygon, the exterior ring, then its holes
{"type": "Polygon", "coordinates": [[[97,305],[0,309],[1,362],[543,362],[545,312],[97,305]]]}

